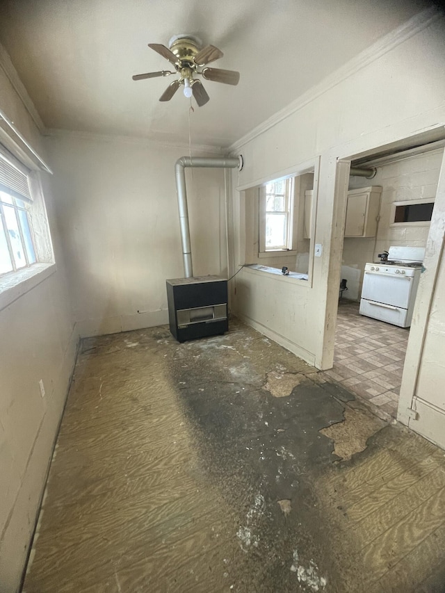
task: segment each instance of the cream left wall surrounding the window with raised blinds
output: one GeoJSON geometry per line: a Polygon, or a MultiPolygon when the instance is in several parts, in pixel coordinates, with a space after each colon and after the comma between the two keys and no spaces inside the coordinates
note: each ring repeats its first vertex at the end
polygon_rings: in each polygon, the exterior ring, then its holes
{"type": "MultiPolygon", "coordinates": [[[[44,156],[38,130],[0,68],[0,108],[44,156]]],[[[74,364],[70,307],[49,176],[42,174],[57,271],[0,310],[0,591],[17,590],[74,364]],[[39,380],[46,396],[40,396],[39,380]]]]}

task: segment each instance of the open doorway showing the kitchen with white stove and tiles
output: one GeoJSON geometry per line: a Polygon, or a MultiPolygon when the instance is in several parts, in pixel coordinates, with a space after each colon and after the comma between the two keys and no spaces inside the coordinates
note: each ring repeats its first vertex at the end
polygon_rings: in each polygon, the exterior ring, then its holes
{"type": "Polygon", "coordinates": [[[376,174],[372,180],[353,175],[349,179],[341,252],[341,281],[347,290],[339,295],[334,361],[325,373],[385,419],[396,418],[398,412],[416,290],[411,291],[406,304],[411,309],[405,314],[391,304],[398,290],[398,286],[391,289],[391,280],[379,284],[382,295],[373,295],[375,302],[362,300],[365,268],[375,275],[376,284],[384,269],[396,284],[402,278],[405,284],[418,282],[421,267],[396,270],[386,260],[390,247],[410,247],[408,252],[414,254],[417,248],[418,259],[423,259],[419,253],[426,247],[430,220],[400,220],[396,212],[399,205],[434,204],[443,153],[440,140],[391,154],[379,154],[377,149],[351,161],[352,167],[375,168],[376,174]]]}

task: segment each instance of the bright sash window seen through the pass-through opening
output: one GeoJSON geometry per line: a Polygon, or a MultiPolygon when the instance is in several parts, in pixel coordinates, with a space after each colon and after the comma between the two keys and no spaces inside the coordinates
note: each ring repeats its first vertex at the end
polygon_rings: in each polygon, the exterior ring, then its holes
{"type": "Polygon", "coordinates": [[[260,190],[260,252],[292,249],[294,178],[270,181],[260,190]]]}

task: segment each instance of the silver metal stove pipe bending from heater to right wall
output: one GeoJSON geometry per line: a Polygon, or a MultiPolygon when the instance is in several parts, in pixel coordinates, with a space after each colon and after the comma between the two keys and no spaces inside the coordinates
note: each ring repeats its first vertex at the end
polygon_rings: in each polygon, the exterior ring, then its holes
{"type": "Polygon", "coordinates": [[[181,156],[176,161],[176,191],[178,196],[179,226],[181,229],[182,257],[184,259],[184,274],[186,278],[193,277],[192,250],[190,242],[190,227],[188,225],[186,167],[204,167],[219,169],[243,168],[243,157],[206,157],[206,156],[181,156]]]}

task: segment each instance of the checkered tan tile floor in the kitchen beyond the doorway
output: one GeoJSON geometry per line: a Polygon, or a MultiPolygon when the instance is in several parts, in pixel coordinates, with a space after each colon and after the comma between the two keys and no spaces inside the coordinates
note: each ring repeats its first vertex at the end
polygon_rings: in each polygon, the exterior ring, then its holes
{"type": "Polygon", "coordinates": [[[325,371],[357,396],[396,417],[410,330],[359,314],[359,303],[339,302],[334,366],[325,371]]]}

